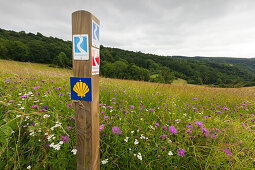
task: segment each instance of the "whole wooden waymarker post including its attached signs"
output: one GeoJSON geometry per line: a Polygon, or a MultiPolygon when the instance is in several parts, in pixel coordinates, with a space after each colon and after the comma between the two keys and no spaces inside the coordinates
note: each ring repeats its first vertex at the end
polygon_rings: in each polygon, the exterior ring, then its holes
{"type": "Polygon", "coordinates": [[[99,20],[87,11],[72,13],[77,169],[100,169],[99,20]]]}

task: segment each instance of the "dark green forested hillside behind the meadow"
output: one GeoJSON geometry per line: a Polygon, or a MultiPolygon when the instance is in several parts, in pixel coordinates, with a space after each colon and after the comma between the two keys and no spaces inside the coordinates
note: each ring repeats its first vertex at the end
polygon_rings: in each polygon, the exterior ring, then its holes
{"type": "MultiPolygon", "coordinates": [[[[101,76],[219,87],[255,86],[255,58],[158,56],[100,47],[101,76]]],[[[0,29],[0,58],[72,67],[72,42],[0,29]]]]}

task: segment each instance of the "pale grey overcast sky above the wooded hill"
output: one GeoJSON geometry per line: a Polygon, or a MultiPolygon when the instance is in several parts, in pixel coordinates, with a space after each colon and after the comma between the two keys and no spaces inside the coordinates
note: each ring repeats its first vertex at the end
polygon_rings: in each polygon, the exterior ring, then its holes
{"type": "Polygon", "coordinates": [[[71,14],[101,22],[101,44],[144,53],[255,57],[255,0],[0,0],[0,28],[71,40],[71,14]]]}

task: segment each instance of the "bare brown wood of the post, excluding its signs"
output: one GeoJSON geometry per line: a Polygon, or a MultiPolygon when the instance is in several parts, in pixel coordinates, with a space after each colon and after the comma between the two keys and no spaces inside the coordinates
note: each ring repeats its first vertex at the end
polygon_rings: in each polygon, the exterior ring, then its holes
{"type": "Polygon", "coordinates": [[[99,20],[87,11],[72,13],[72,35],[88,34],[89,36],[89,60],[73,60],[73,74],[74,77],[92,78],[92,101],[75,102],[78,170],[100,169],[99,75],[91,75],[92,19],[100,24],[99,20]]]}

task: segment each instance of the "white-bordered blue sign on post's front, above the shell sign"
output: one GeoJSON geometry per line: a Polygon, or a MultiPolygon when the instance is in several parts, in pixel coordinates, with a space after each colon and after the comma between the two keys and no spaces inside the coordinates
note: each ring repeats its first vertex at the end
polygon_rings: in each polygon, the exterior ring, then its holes
{"type": "Polygon", "coordinates": [[[88,34],[73,35],[73,59],[89,60],[88,34]]]}

